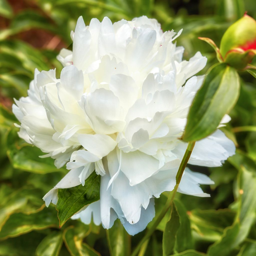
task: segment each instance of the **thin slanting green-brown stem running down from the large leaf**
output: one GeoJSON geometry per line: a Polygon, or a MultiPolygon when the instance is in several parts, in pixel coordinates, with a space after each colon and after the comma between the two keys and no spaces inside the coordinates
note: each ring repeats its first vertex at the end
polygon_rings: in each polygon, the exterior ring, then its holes
{"type": "Polygon", "coordinates": [[[195,141],[189,142],[186,152],[182,158],[182,161],[180,163],[177,175],[176,175],[176,185],[173,189],[173,191],[169,194],[169,197],[167,198],[167,201],[162,209],[162,211],[160,212],[160,214],[158,215],[158,217],[154,220],[153,225],[151,226],[150,229],[147,230],[145,236],[141,239],[141,241],[137,244],[137,246],[135,247],[133,253],[131,254],[131,256],[136,256],[138,254],[138,252],[140,251],[141,246],[144,244],[144,242],[146,240],[148,240],[151,235],[154,233],[156,227],[158,226],[158,224],[161,222],[161,220],[163,219],[163,217],[165,216],[166,212],[168,211],[168,209],[170,208],[170,206],[172,205],[173,199],[175,197],[175,194],[177,192],[178,186],[180,184],[180,180],[182,178],[184,169],[188,163],[189,157],[192,153],[192,150],[195,146],[195,141]]]}

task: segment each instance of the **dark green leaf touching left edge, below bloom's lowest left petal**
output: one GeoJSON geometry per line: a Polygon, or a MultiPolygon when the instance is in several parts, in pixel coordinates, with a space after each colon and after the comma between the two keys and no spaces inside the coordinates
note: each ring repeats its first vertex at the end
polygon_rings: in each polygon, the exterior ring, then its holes
{"type": "Polygon", "coordinates": [[[17,237],[32,230],[58,227],[54,208],[45,208],[34,214],[15,213],[6,221],[0,231],[0,239],[17,237]]]}

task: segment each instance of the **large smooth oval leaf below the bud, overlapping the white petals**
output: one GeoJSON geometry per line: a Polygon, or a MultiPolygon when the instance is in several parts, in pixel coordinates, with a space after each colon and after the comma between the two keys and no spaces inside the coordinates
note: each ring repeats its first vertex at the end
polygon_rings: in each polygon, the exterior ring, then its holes
{"type": "Polygon", "coordinates": [[[214,132],[237,102],[239,89],[235,69],[225,63],[213,66],[191,105],[183,140],[197,141],[214,132]]]}

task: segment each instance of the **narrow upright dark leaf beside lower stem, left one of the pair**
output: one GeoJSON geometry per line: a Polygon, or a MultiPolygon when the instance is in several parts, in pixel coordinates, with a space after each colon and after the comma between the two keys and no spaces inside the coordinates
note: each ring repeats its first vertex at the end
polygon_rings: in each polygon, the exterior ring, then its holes
{"type": "Polygon", "coordinates": [[[170,219],[166,223],[163,234],[163,255],[170,255],[173,253],[179,227],[180,218],[176,206],[172,204],[170,219]]]}

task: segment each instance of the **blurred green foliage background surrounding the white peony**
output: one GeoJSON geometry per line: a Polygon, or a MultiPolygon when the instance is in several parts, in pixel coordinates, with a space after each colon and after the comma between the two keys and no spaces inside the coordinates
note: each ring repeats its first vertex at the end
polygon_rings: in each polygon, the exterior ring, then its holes
{"type": "MultiPolygon", "coordinates": [[[[185,47],[186,59],[201,51],[208,58],[205,73],[217,59],[197,37],[219,46],[224,31],[245,11],[256,18],[255,0],[0,0],[0,255],[128,256],[145,232],[130,237],[118,221],[109,231],[72,220],[59,229],[55,208],[44,207],[42,197],[67,171],[56,169],[52,159],[39,158],[42,152],[20,140],[13,125],[13,98],[27,95],[35,68],[56,67],[60,73],[56,56],[70,46],[70,31],[80,15],[87,25],[93,17],[115,22],[147,15],[164,31],[183,28],[177,45],[185,47]]],[[[237,153],[222,167],[191,167],[215,185],[203,188],[211,198],[176,195],[179,228],[169,238],[176,256],[256,255],[256,81],[247,72],[241,78],[232,121],[222,128],[237,153]]],[[[156,215],[166,196],[155,200],[156,215]]],[[[168,214],[140,256],[162,255],[168,214]]]]}

